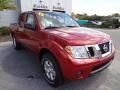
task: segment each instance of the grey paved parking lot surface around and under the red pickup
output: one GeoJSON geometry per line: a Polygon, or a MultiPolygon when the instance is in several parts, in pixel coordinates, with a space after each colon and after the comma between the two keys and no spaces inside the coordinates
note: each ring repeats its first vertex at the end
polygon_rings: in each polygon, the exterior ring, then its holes
{"type": "Polygon", "coordinates": [[[85,80],[66,81],[59,88],[45,82],[32,53],[15,51],[12,42],[0,43],[0,90],[120,90],[120,29],[98,30],[113,39],[116,56],[112,65],[85,80]]]}

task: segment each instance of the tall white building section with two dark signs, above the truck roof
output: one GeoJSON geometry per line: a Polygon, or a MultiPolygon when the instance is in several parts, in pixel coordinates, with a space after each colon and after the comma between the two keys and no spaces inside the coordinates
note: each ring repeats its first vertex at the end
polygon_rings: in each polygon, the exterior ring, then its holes
{"type": "Polygon", "coordinates": [[[40,9],[71,14],[72,9],[72,0],[16,0],[16,3],[19,12],[40,9]]]}

